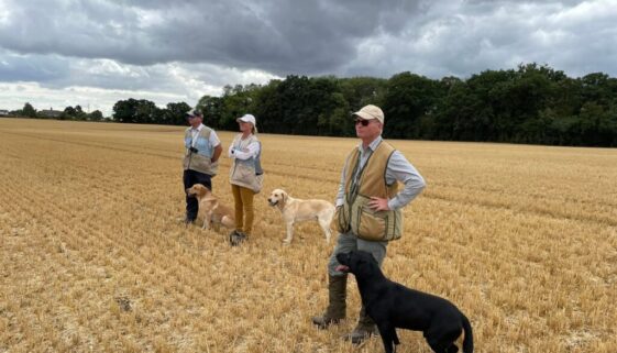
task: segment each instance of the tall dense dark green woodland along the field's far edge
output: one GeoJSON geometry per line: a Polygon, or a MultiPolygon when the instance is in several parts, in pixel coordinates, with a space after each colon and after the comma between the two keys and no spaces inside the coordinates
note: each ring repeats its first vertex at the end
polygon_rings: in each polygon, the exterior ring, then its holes
{"type": "Polygon", "coordinates": [[[265,86],[225,87],[198,107],[208,124],[236,130],[257,117],[264,132],[353,136],[350,113],[384,110],[384,136],[442,141],[617,146],[617,79],[570,78],[537,64],[485,70],[466,80],[401,73],[389,79],[288,76],[265,86]]]}

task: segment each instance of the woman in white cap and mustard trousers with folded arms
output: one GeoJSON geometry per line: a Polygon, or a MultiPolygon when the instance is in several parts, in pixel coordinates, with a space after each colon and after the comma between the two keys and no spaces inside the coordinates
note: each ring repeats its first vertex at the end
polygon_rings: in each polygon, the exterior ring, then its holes
{"type": "Polygon", "coordinates": [[[262,189],[263,170],[260,162],[262,144],[257,136],[255,117],[244,114],[238,118],[240,134],[233,139],[229,146],[229,157],[232,158],[229,181],[235,205],[235,230],[231,233],[230,241],[236,245],[253,229],[253,196],[262,189]]]}

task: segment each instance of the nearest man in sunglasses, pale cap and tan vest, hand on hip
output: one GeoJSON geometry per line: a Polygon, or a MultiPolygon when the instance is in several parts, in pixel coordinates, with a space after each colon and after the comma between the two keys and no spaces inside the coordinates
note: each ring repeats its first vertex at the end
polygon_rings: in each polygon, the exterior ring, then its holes
{"type": "MultiPolygon", "coordinates": [[[[381,266],[388,242],[401,236],[401,208],[426,185],[405,156],[382,139],[382,109],[368,104],[353,113],[353,118],[361,143],[348,156],[339,184],[334,220],[339,238],[328,263],[329,305],[322,316],[312,318],[320,329],[338,323],[346,315],[348,274],[338,271],[337,254],[366,251],[381,266]],[[399,183],[404,185],[400,191],[399,183]]],[[[377,332],[363,306],[355,329],[344,339],[360,344],[377,332]]]]}

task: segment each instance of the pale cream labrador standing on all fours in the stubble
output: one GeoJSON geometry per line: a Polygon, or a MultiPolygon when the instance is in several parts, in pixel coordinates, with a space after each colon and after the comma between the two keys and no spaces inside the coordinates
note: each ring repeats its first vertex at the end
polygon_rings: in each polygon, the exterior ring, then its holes
{"type": "Polygon", "coordinates": [[[290,197],[285,190],[275,189],[267,198],[269,206],[277,207],[283,214],[283,221],[287,227],[287,238],[283,241],[291,243],[294,238],[294,223],[300,221],[317,220],[326,233],[326,241],[330,242],[330,223],[334,217],[334,205],[324,200],[301,200],[290,197]]]}

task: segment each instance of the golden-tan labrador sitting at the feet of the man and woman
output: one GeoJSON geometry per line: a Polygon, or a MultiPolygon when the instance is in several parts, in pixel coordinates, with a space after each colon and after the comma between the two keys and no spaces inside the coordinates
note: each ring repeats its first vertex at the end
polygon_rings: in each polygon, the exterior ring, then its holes
{"type": "Polygon", "coordinates": [[[223,224],[229,229],[235,228],[233,211],[229,207],[222,205],[210,189],[201,184],[196,184],[186,189],[186,194],[197,197],[199,201],[199,213],[197,217],[203,219],[202,229],[210,229],[212,224],[216,224],[216,230],[218,230],[219,224],[223,224]]]}

